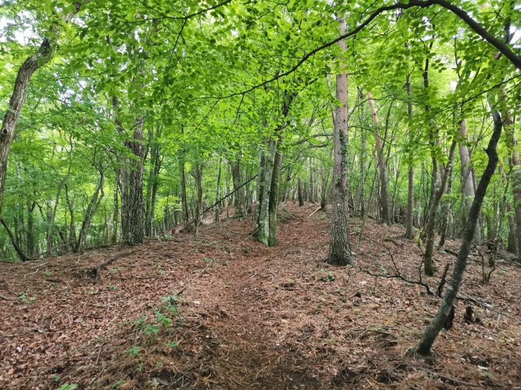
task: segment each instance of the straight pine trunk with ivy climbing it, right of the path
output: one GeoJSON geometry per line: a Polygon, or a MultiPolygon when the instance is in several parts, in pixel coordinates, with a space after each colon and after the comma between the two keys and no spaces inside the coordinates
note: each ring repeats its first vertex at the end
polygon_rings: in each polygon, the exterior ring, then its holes
{"type": "MultiPolygon", "coordinates": [[[[345,20],[339,19],[340,33],[345,33],[345,20]]],[[[343,53],[347,47],[344,41],[338,45],[343,53]]],[[[348,205],[348,148],[349,148],[349,114],[348,114],[348,73],[337,74],[337,106],[333,116],[333,190],[331,231],[329,236],[328,263],[333,265],[354,264],[349,243],[349,205],[348,205]]]]}

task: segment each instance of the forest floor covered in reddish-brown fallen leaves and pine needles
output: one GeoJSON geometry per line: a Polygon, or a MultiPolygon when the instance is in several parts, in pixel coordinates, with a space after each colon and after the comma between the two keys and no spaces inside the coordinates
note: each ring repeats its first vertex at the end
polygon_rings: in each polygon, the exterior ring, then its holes
{"type": "MultiPolygon", "coordinates": [[[[521,388],[521,268],[499,263],[483,285],[481,259],[470,259],[461,296],[490,308],[472,304],[480,322],[468,324],[471,303],[457,301],[433,356],[415,359],[406,352],[440,301],[384,277],[396,274],[394,260],[418,280],[421,251],[403,227],[368,220],[357,266],[333,267],[324,262],[328,214],[285,208],[294,217],[280,224],[275,248],[249,237],[251,220],[226,219],[199,237],[134,248],[96,284],[82,270],[128,249],[2,264],[0,388],[521,388]],[[168,298],[181,290],[182,323],[168,298]]],[[[432,291],[454,259],[436,253],[437,276],[423,279],[432,291]]]]}

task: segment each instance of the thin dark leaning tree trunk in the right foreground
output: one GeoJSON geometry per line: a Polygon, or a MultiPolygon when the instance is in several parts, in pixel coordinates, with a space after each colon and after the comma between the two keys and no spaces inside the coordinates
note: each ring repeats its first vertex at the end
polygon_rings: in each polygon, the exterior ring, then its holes
{"type": "Polygon", "coordinates": [[[420,355],[425,356],[430,353],[432,344],[435,342],[436,337],[438,336],[438,333],[441,331],[446,318],[449,316],[450,310],[452,308],[458,290],[460,289],[461,282],[463,280],[463,274],[467,265],[467,257],[470,253],[470,248],[474,239],[474,233],[478,223],[481,204],[483,203],[483,198],[485,198],[485,195],[487,193],[487,188],[490,183],[490,179],[494,174],[495,167],[498,165],[498,153],[496,151],[496,148],[498,146],[498,141],[501,136],[501,129],[503,127],[503,123],[501,121],[501,115],[498,111],[494,111],[492,113],[492,118],[494,120],[494,132],[490,137],[490,141],[486,150],[488,155],[487,167],[485,168],[485,171],[483,171],[483,175],[479,180],[479,185],[475,192],[474,201],[472,202],[472,206],[470,207],[469,216],[463,234],[463,240],[460,246],[460,251],[458,252],[457,260],[454,264],[449,288],[447,289],[445,296],[443,297],[443,300],[438,309],[438,313],[425,330],[418,344],[418,347],[416,348],[416,352],[420,355]]]}

